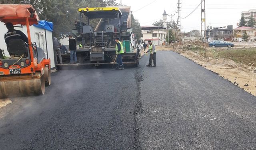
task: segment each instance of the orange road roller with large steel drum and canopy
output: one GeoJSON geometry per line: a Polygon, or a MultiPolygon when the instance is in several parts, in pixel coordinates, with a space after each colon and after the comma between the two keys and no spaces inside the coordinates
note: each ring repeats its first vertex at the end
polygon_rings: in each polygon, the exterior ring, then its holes
{"type": "Polygon", "coordinates": [[[0,98],[44,94],[45,85],[51,84],[50,59],[31,42],[29,26],[38,24],[38,20],[32,5],[0,5],[0,21],[26,25],[28,35],[28,43],[9,40],[10,58],[0,58],[0,98]]]}

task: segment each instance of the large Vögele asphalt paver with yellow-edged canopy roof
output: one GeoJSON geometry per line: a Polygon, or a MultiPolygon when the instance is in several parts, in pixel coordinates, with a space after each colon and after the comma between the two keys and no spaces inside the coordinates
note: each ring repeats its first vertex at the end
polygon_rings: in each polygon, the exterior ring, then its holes
{"type": "MultiPolygon", "coordinates": [[[[124,47],[123,63],[138,66],[140,51],[135,49],[136,39],[132,36],[130,6],[86,7],[78,11],[80,20],[75,24],[76,30],[72,30],[72,34],[77,44],[82,46],[76,50],[78,64],[75,65],[114,63],[115,38],[118,37],[124,47]],[[83,18],[86,18],[86,22],[83,22],[83,18]],[[93,26],[95,22],[98,22],[96,27],[93,26]]],[[[65,64],[58,64],[58,69],[68,65],[66,63],[70,61],[70,54],[62,55],[62,61],[65,64]]]]}

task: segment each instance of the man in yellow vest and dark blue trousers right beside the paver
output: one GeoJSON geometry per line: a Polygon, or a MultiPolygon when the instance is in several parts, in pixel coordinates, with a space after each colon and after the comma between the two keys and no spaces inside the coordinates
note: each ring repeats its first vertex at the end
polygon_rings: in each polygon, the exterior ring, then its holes
{"type": "Polygon", "coordinates": [[[123,62],[122,62],[122,55],[124,53],[123,44],[119,40],[119,38],[115,38],[115,41],[116,41],[116,54],[117,54],[117,58],[116,58],[117,66],[115,69],[123,70],[124,69],[123,62]]]}

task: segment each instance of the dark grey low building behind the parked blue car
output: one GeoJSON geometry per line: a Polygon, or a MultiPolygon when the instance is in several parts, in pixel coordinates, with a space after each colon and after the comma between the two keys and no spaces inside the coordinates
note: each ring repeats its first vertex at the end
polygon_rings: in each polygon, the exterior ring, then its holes
{"type": "Polygon", "coordinates": [[[233,38],[233,26],[218,27],[206,30],[206,39],[208,41],[212,40],[227,40],[230,41],[233,38]]]}

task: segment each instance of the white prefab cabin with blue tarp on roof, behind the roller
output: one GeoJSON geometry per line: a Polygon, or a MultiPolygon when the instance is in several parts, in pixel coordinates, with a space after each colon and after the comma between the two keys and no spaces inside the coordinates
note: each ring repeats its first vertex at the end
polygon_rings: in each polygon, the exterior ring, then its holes
{"type": "MultiPolygon", "coordinates": [[[[38,25],[30,26],[30,36],[31,42],[36,42],[37,47],[42,48],[46,55],[46,58],[50,58],[51,60],[51,68],[56,68],[54,63],[54,51],[53,51],[53,41],[52,41],[52,28],[48,27],[48,24],[52,24],[51,22],[40,21],[38,25]]],[[[14,29],[22,31],[26,36],[27,27],[22,25],[14,26],[14,29]]],[[[4,41],[4,34],[7,32],[7,28],[3,22],[0,22],[0,32],[2,36],[0,36],[0,49],[4,50],[6,56],[9,56],[7,51],[6,43],[4,41]]]]}

